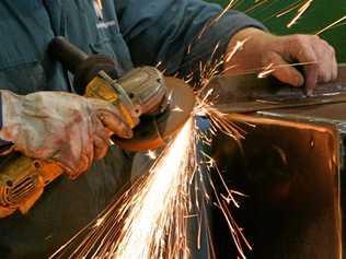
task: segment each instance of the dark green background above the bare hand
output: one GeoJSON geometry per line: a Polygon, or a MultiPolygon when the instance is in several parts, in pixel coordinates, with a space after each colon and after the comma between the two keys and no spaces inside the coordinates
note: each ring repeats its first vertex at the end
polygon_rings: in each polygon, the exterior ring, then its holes
{"type": "MultiPolygon", "coordinates": [[[[226,7],[228,0],[209,0],[226,7]]],[[[314,0],[292,27],[287,24],[297,15],[298,9],[288,14],[276,15],[292,4],[307,2],[305,0],[239,0],[234,9],[262,21],[275,34],[314,34],[328,24],[346,15],[346,0],[314,0]]],[[[336,49],[338,61],[346,62],[346,20],[333,30],[320,35],[331,43],[336,49]]]]}

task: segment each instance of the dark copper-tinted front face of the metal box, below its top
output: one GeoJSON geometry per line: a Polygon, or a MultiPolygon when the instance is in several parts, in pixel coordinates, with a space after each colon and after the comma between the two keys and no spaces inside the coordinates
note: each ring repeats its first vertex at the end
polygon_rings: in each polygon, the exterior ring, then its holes
{"type": "MultiPolygon", "coordinates": [[[[335,127],[254,116],[243,122],[241,145],[224,134],[214,136],[212,157],[230,187],[249,196],[238,200],[240,209],[232,208],[253,245],[246,258],[345,258],[342,137],[335,127]]],[[[232,258],[232,239],[218,210],[212,228],[218,258],[232,258]]]]}

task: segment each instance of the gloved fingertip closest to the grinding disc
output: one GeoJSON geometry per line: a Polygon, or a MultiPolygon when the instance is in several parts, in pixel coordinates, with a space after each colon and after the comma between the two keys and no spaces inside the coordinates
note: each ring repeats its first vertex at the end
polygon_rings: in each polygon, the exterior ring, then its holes
{"type": "Polygon", "coordinates": [[[99,110],[97,117],[103,126],[114,132],[114,134],[125,139],[132,138],[131,128],[114,114],[107,110],[99,110]]]}

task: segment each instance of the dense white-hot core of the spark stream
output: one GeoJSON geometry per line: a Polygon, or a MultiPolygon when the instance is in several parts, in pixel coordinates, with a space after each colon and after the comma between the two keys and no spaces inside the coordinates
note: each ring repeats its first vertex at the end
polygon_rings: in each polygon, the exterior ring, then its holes
{"type": "MultiPolygon", "coordinates": [[[[162,250],[162,247],[170,245],[165,244],[165,235],[175,220],[171,219],[171,215],[175,214],[173,210],[178,209],[174,205],[178,192],[186,192],[181,188],[187,180],[184,178],[187,177],[189,163],[186,157],[189,157],[194,144],[192,134],[193,119],[191,118],[166,149],[163,158],[159,160],[150,170],[150,179],[141,193],[134,197],[136,204],[125,220],[126,231],[119,239],[114,258],[174,258],[173,250],[162,250]]],[[[178,205],[184,204],[180,202],[178,205]]],[[[178,238],[182,238],[182,258],[187,258],[187,240],[185,236],[181,236],[182,234],[184,235],[184,232],[176,233],[178,238]]]]}

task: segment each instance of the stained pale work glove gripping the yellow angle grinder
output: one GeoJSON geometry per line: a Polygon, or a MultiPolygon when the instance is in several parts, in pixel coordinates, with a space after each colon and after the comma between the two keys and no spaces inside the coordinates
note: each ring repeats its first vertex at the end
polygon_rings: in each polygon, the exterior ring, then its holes
{"type": "Polygon", "coordinates": [[[62,92],[25,96],[1,91],[0,138],[26,156],[55,161],[71,176],[85,172],[108,149],[109,136],[132,131],[112,104],[62,92]]]}

